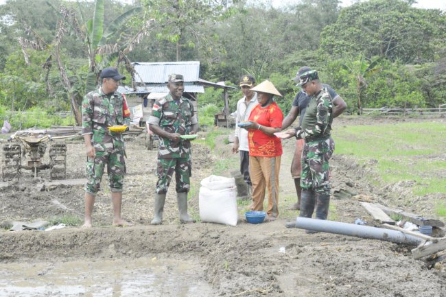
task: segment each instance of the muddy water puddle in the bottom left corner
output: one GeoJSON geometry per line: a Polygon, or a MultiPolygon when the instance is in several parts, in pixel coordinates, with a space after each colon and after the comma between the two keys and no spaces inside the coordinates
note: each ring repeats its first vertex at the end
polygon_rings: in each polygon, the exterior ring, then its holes
{"type": "Polygon", "coordinates": [[[0,264],[0,296],[213,296],[200,265],[172,259],[0,264]]]}

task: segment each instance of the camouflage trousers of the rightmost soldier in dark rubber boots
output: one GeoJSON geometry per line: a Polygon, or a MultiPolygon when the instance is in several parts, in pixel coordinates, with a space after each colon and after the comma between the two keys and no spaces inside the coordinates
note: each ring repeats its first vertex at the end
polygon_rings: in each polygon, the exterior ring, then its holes
{"type": "Polygon", "coordinates": [[[335,145],[333,139],[325,141],[305,141],[302,151],[301,187],[316,193],[330,195],[329,159],[335,145]]]}

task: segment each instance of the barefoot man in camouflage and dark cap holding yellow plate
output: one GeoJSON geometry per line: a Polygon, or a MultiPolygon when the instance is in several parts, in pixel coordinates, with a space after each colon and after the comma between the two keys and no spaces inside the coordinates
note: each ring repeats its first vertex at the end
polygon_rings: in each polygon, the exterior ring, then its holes
{"type": "Polygon", "coordinates": [[[116,68],[102,69],[102,86],[86,94],[82,102],[82,136],[86,145],[85,222],[93,225],[91,214],[95,196],[107,166],[108,182],[113,203],[113,225],[131,226],[121,219],[121,200],[126,163],[124,137],[108,130],[110,126],[130,126],[130,110],[124,94],[117,92],[120,80],[125,80],[116,68]]]}

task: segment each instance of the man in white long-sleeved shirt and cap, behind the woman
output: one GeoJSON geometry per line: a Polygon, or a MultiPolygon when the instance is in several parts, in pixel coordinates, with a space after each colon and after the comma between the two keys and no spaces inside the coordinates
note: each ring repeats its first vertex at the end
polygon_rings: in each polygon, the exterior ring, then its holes
{"type": "Polygon", "coordinates": [[[242,89],[244,97],[237,102],[235,110],[235,132],[232,152],[240,154],[240,174],[242,174],[246,185],[248,185],[248,196],[253,192],[253,182],[249,175],[249,145],[248,130],[241,129],[238,124],[242,121],[248,121],[251,110],[257,105],[257,93],[250,88],[255,86],[253,75],[242,75],[239,79],[239,86],[242,89]]]}

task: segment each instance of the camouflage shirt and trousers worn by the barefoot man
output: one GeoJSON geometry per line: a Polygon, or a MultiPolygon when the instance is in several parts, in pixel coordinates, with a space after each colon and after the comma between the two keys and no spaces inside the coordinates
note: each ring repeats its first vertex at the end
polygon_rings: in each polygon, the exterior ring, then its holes
{"type": "Polygon", "coordinates": [[[107,165],[110,191],[121,192],[126,174],[124,137],[110,132],[108,126],[130,126],[130,112],[124,108],[125,97],[119,92],[106,95],[102,88],[85,95],[82,102],[82,135],[92,134],[95,158],[87,158],[85,191],[95,195],[107,165]]]}

